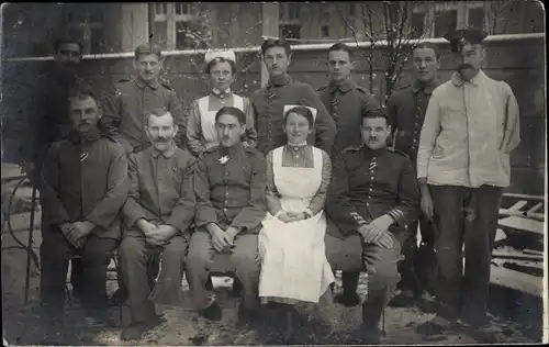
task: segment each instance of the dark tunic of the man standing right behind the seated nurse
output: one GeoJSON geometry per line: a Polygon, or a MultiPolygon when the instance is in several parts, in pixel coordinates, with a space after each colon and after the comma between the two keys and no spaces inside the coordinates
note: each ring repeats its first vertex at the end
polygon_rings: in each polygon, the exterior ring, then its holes
{"type": "Polygon", "coordinates": [[[311,86],[294,81],[288,75],[277,76],[265,88],[254,92],[251,104],[256,114],[257,149],[264,155],[288,143],[283,131],[283,109],[289,104],[317,110],[315,131],[307,137],[307,143],[332,153],[336,126],[311,86]]]}

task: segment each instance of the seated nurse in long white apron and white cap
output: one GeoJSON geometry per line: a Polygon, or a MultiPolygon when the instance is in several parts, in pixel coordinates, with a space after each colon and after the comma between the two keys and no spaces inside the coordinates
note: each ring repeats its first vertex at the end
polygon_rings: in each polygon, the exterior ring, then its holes
{"type": "MultiPolygon", "coordinates": [[[[269,212],[259,233],[261,303],[318,303],[330,294],[324,202],[332,175],[329,156],[306,143],[316,110],[284,107],[288,144],[266,157],[269,212]]],[[[329,302],[329,300],[328,300],[329,302]]]]}

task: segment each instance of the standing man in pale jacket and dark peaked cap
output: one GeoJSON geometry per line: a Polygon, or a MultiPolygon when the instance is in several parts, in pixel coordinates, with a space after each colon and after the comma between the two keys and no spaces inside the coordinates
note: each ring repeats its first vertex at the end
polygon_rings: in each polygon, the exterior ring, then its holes
{"type": "Polygon", "coordinates": [[[417,328],[429,335],[448,329],[459,317],[473,328],[488,323],[498,209],[511,181],[509,153],[520,142],[513,91],[481,69],[486,33],[459,30],[445,37],[457,71],[433,91],[417,154],[422,209],[439,232],[435,251],[440,306],[434,320],[417,328]]]}

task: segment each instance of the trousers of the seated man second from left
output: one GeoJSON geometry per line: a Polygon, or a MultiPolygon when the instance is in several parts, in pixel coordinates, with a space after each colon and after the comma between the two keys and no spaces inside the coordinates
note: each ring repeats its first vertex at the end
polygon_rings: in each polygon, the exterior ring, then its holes
{"type": "MultiPolygon", "coordinates": [[[[154,303],[171,304],[181,300],[183,260],[188,240],[173,236],[166,246],[149,246],[138,233],[126,234],[119,249],[120,275],[130,298],[132,323],[144,323],[155,314],[154,303]],[[159,259],[158,281],[150,280],[150,260],[159,259]]],[[[156,262],[153,262],[158,269],[156,262]]]]}

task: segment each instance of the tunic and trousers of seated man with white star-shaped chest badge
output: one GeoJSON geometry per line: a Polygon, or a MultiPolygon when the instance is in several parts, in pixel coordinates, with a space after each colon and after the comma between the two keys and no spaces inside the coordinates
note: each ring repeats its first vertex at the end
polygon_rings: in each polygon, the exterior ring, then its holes
{"type": "Polygon", "coordinates": [[[259,253],[257,233],[267,213],[264,156],[251,147],[212,147],[198,159],[194,174],[197,231],[191,237],[187,262],[197,309],[208,305],[205,284],[217,257],[226,260],[226,270],[236,273],[244,287],[244,305],[257,305],[259,253]],[[222,230],[234,226],[235,248],[228,255],[216,254],[205,230],[216,223],[222,230]]]}

